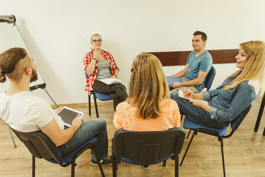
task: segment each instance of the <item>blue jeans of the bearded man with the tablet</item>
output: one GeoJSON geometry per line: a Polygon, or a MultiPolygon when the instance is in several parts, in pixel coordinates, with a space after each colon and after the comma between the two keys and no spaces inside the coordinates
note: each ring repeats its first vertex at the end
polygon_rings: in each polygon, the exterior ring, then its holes
{"type": "MultiPolygon", "coordinates": [[[[86,142],[88,139],[95,136],[97,141],[93,143],[99,158],[104,158],[108,155],[108,134],[106,121],[101,118],[92,119],[82,122],[80,128],[75,132],[73,137],[61,146],[58,146],[62,156],[70,153],[79,145],[86,142]]],[[[64,129],[69,127],[64,126],[64,129]]],[[[91,150],[91,158],[96,161],[95,154],[91,150]]]]}

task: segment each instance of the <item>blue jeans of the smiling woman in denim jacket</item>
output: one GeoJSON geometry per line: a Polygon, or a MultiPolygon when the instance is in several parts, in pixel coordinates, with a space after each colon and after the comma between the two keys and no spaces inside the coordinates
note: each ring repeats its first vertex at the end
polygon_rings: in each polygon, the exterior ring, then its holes
{"type": "Polygon", "coordinates": [[[211,119],[210,113],[206,110],[194,106],[187,99],[177,97],[177,91],[172,91],[170,93],[170,97],[172,100],[177,102],[180,113],[188,116],[190,120],[194,121],[195,123],[211,128],[224,127],[217,120],[211,119]]]}

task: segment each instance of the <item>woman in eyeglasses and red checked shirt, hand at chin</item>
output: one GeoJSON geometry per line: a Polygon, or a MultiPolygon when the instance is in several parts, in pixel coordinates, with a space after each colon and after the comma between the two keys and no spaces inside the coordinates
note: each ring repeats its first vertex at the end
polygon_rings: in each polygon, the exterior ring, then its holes
{"type": "Polygon", "coordinates": [[[113,100],[113,108],[126,100],[128,97],[123,84],[105,84],[99,79],[117,78],[119,68],[112,55],[108,51],[101,49],[102,38],[99,34],[91,36],[93,50],[86,53],[84,57],[85,72],[88,75],[85,90],[90,94],[91,88],[98,93],[109,93],[113,100]]]}

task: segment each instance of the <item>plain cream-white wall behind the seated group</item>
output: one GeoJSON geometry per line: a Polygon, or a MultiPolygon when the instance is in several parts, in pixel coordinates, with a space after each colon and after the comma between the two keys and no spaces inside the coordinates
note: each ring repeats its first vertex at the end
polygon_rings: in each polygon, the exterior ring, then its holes
{"type": "MultiPolygon", "coordinates": [[[[68,104],[88,101],[83,58],[90,47],[79,35],[88,43],[92,34],[102,36],[102,49],[114,56],[118,79],[127,87],[135,56],[190,51],[194,31],[207,34],[207,50],[265,41],[264,7],[263,0],[1,0],[0,15],[15,15],[47,91],[57,104],[68,104]]],[[[183,67],[164,67],[165,74],[183,67]]],[[[212,88],[237,70],[235,64],[214,67],[212,88]]],[[[44,90],[37,90],[34,94],[53,104],[44,90]]]]}

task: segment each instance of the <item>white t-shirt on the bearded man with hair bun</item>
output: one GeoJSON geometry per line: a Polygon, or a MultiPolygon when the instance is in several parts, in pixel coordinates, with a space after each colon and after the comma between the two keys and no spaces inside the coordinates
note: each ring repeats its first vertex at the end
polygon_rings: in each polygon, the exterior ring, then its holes
{"type": "Polygon", "coordinates": [[[61,130],[64,123],[47,101],[23,91],[12,96],[0,94],[0,117],[15,130],[32,132],[47,125],[53,117],[61,130]]]}

